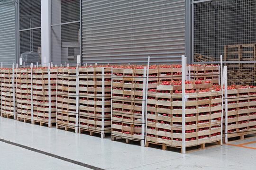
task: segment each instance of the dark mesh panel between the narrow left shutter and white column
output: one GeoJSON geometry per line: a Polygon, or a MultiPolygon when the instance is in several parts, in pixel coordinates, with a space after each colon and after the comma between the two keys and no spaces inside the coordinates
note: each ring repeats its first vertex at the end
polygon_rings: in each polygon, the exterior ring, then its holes
{"type": "Polygon", "coordinates": [[[19,0],[19,57],[25,66],[41,63],[40,0],[19,0]]]}

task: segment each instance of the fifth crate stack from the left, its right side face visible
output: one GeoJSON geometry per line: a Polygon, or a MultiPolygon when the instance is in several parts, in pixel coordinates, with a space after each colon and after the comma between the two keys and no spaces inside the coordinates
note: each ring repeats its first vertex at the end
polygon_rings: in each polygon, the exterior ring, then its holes
{"type": "Polygon", "coordinates": [[[100,133],[111,132],[111,67],[79,68],[79,129],[100,133]]]}

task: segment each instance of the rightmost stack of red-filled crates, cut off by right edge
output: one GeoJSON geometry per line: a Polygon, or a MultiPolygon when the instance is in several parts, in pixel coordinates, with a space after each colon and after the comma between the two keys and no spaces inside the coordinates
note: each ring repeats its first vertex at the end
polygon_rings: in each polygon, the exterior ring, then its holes
{"type": "MultiPolygon", "coordinates": [[[[229,86],[223,128],[225,142],[231,137],[256,133],[256,86],[229,86]]],[[[225,103],[226,104],[226,103],[225,103]]]]}

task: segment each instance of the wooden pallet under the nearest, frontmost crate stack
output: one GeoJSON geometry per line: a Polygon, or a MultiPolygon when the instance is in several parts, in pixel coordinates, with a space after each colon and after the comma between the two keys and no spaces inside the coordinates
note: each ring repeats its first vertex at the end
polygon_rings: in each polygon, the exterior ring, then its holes
{"type": "MultiPolygon", "coordinates": [[[[182,147],[180,147],[180,146],[172,146],[172,145],[168,145],[168,144],[159,144],[159,143],[146,141],[146,147],[149,147],[149,144],[161,145],[162,150],[169,150],[167,147],[170,147],[170,149],[179,148],[181,150],[181,153],[183,153],[182,152],[182,147]]],[[[212,147],[216,147],[216,146],[220,146],[220,145],[221,145],[221,140],[214,141],[214,142],[209,142],[209,143],[187,146],[186,147],[186,153],[199,151],[199,150],[202,150],[202,149],[208,149],[208,148],[212,148],[212,147]]]]}

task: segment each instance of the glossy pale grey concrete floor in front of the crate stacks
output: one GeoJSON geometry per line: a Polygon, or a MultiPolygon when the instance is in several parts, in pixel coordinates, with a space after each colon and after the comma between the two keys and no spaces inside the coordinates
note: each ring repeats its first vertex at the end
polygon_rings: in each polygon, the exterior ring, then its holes
{"type": "MultiPolygon", "coordinates": [[[[0,139],[106,170],[256,170],[256,143],[181,154],[0,118],[0,139]]],[[[232,144],[256,141],[250,138],[232,144]]],[[[0,141],[0,170],[90,170],[0,141]]]]}

